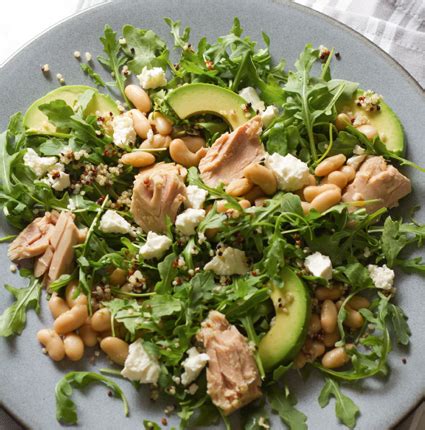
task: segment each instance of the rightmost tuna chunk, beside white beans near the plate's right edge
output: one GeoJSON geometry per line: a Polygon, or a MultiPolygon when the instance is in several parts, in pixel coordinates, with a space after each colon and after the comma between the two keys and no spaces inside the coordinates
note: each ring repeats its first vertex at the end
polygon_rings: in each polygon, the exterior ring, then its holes
{"type": "Polygon", "coordinates": [[[410,180],[383,157],[369,157],[356,173],[342,196],[344,202],[379,199],[366,205],[368,212],[398,206],[398,201],[412,190],[410,180]]]}

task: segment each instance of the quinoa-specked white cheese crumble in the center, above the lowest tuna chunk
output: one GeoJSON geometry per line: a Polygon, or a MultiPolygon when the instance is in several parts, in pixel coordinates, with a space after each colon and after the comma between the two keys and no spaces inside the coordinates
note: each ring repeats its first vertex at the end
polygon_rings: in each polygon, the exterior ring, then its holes
{"type": "Polygon", "coordinates": [[[217,255],[204,266],[204,270],[211,270],[216,275],[244,275],[249,267],[244,251],[227,247],[220,249],[217,255]]]}

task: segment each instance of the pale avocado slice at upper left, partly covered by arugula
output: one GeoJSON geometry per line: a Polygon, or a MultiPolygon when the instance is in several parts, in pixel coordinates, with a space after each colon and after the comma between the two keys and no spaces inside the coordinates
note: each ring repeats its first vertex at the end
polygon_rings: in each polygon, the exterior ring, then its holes
{"type": "Polygon", "coordinates": [[[112,112],[114,115],[119,114],[115,101],[108,95],[99,93],[95,88],[87,85],[64,85],[39,98],[28,108],[24,115],[24,126],[43,133],[55,132],[55,126],[48,122],[47,116],[38,107],[53,100],[64,100],[66,104],[73,107],[80,96],[87,90],[95,91],[95,95],[88,104],[84,112],[85,115],[95,114],[97,111],[112,112]]]}

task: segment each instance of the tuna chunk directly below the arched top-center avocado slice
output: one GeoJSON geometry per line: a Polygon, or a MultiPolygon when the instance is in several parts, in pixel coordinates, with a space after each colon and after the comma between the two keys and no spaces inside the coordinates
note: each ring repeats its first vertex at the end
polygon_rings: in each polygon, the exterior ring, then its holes
{"type": "Polygon", "coordinates": [[[254,117],[232,133],[220,136],[199,163],[202,180],[210,187],[243,177],[243,169],[264,157],[261,118],[254,117]]]}

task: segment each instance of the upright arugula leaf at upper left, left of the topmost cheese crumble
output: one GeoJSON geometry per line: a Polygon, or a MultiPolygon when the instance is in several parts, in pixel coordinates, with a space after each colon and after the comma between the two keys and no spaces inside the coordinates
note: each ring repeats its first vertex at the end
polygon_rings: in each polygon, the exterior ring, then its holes
{"type": "Polygon", "coordinates": [[[97,59],[111,72],[121,96],[128,106],[131,106],[124,92],[125,77],[121,73],[121,68],[126,64],[127,58],[121,50],[121,45],[117,40],[117,33],[109,25],[105,25],[103,37],[100,38],[100,41],[106,57],[98,56],[97,59]]]}

